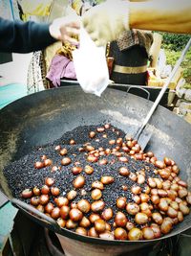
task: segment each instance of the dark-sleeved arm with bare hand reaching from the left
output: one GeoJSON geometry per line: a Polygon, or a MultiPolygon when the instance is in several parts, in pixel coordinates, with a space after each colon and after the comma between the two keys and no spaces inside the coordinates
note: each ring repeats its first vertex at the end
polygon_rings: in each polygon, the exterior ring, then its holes
{"type": "Polygon", "coordinates": [[[0,17],[0,52],[30,53],[43,50],[56,40],[76,43],[79,22],[63,17],[52,24],[10,21],[0,17]]]}

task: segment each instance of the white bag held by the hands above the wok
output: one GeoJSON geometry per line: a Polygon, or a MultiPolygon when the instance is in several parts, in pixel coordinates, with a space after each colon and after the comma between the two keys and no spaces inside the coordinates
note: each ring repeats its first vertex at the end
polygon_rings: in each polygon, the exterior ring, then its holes
{"type": "Polygon", "coordinates": [[[96,47],[84,28],[80,30],[79,49],[73,52],[76,78],[86,93],[100,96],[109,84],[105,47],[96,47]]]}

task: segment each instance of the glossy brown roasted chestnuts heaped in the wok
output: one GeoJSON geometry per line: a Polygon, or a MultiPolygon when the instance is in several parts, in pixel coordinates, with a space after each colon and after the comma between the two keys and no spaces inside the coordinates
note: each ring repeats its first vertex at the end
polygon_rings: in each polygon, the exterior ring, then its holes
{"type": "MultiPolygon", "coordinates": [[[[107,149],[93,147],[91,140],[96,139],[96,134],[102,134],[103,138],[107,138],[105,130],[109,128],[111,128],[110,124],[106,124],[92,130],[89,133],[90,142],[78,149],[85,153],[87,164],[82,167],[79,162],[76,162],[71,168],[71,174],[74,175],[74,189],[67,192],[66,196],[61,196],[62,188],[55,186],[53,177],[47,176],[41,188],[33,187],[24,190],[22,198],[30,198],[32,206],[52,217],[60,227],[72,229],[84,236],[106,240],[138,241],[157,239],[168,234],[174,225],[183,221],[184,216],[190,212],[191,192],[187,190],[187,183],[180,179],[179,167],[168,157],[160,161],[153,152],[141,151],[138,142],[132,138],[118,137],[117,140],[108,140],[107,149]],[[113,147],[110,147],[111,145],[113,147]],[[75,201],[74,198],[79,191],[82,196],[87,193],[83,189],[86,183],[83,173],[94,175],[95,170],[91,163],[107,165],[109,163],[104,155],[110,154],[116,155],[117,161],[121,163],[117,170],[118,175],[134,181],[131,188],[122,186],[124,191],[131,191],[133,201],[118,197],[117,212],[112,207],[105,206],[102,194],[106,186],[115,182],[112,175],[103,175],[100,180],[92,182],[91,192],[88,192],[91,193],[91,201],[85,198],[75,201]],[[131,173],[124,165],[128,162],[128,157],[152,163],[157,177],[146,176],[144,169],[131,173]],[[144,190],[141,184],[146,184],[144,190]]],[[[113,130],[117,132],[116,128],[113,130]]],[[[70,145],[75,145],[73,138],[70,140],[70,145]]],[[[57,145],[54,150],[63,156],[61,166],[69,166],[72,163],[72,159],[67,155],[67,149],[57,145]]],[[[60,170],[60,167],[54,166],[53,161],[46,155],[42,155],[41,161],[34,163],[35,169],[47,166],[50,167],[51,172],[60,170]]]]}

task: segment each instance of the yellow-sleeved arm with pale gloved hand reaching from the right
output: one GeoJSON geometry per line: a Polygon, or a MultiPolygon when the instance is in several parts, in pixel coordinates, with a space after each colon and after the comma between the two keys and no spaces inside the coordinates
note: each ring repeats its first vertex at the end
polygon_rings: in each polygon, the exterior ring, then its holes
{"type": "Polygon", "coordinates": [[[107,0],[86,12],[82,22],[97,46],[129,29],[191,34],[191,1],[107,0]]]}

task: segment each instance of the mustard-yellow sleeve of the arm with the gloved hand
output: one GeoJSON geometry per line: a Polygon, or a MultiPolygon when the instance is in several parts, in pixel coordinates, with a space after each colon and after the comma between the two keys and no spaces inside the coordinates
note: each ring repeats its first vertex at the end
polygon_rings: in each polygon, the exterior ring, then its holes
{"type": "Polygon", "coordinates": [[[130,28],[191,33],[190,0],[153,0],[129,3],[130,28]]]}

